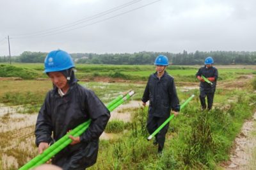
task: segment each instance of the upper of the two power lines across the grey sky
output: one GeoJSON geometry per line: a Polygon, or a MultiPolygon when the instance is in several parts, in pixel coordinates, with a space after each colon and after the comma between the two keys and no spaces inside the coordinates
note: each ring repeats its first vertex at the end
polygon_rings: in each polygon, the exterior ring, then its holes
{"type": "MultiPolygon", "coordinates": [[[[84,19],[81,19],[81,20],[77,20],[76,22],[71,22],[70,24],[65,24],[63,26],[58,26],[58,27],[52,27],[50,29],[46,29],[44,31],[36,31],[34,33],[28,33],[28,34],[24,34],[24,35],[13,35],[12,37],[16,38],[15,36],[39,36],[39,35],[44,35],[44,34],[48,34],[48,33],[52,33],[52,32],[56,32],[56,31],[60,31],[60,30],[63,30],[65,28],[68,28],[68,27],[72,27],[72,26],[76,26],[76,25],[79,25],[79,24],[83,24],[84,22],[88,22],[90,20],[94,20],[94,19],[97,19],[99,17],[102,17],[104,15],[107,15],[109,13],[113,13],[113,12],[116,12],[117,10],[120,10],[122,8],[125,8],[127,6],[130,6],[132,4],[135,4],[135,3],[138,3],[142,0],[135,0],[135,1],[130,1],[129,3],[125,3],[125,4],[122,4],[120,6],[116,6],[115,8],[111,8],[110,10],[106,10],[104,12],[100,12],[100,13],[97,13],[96,15],[92,15],[91,17],[86,17],[84,19]]],[[[17,37],[18,38],[18,37],[17,37]]],[[[22,38],[22,37],[21,37],[22,38]]]]}

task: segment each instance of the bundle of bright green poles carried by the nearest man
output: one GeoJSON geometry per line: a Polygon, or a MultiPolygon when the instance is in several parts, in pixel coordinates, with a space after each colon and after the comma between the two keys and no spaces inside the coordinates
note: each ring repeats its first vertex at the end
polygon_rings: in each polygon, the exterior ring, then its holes
{"type": "MultiPolygon", "coordinates": [[[[120,98],[121,95],[119,97],[117,97],[118,100],[115,99],[115,101],[118,104],[114,104],[113,102],[109,103],[110,107],[111,107],[111,108],[109,108],[109,104],[108,104],[107,107],[108,107],[109,111],[113,111],[113,109],[115,109],[116,107],[118,107],[119,105],[124,103],[124,101],[128,100],[132,95],[134,95],[134,91],[130,91],[123,98],[120,98]]],[[[36,166],[39,166],[40,164],[44,164],[45,162],[47,162],[47,160],[49,160],[51,157],[56,155],[56,153],[63,150],[63,148],[65,148],[68,144],[70,144],[72,142],[72,139],[69,138],[69,135],[74,135],[75,137],[77,137],[77,136],[83,134],[83,132],[89,127],[90,122],[91,122],[91,120],[88,120],[88,121],[82,123],[81,125],[78,125],[76,128],[74,128],[68,134],[64,135],[63,137],[61,137],[61,139],[56,141],[56,143],[52,144],[49,148],[44,150],[44,152],[42,154],[37,155],[35,158],[33,158],[27,164],[20,167],[20,170],[27,170],[27,169],[30,169],[31,167],[36,167],[36,166]]]]}

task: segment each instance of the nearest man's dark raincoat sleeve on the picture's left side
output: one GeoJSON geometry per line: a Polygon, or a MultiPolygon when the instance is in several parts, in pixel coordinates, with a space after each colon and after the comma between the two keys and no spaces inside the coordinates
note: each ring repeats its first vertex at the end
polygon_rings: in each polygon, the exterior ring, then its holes
{"type": "Polygon", "coordinates": [[[36,120],[35,136],[36,146],[40,143],[51,143],[52,141],[52,125],[51,125],[51,113],[49,111],[50,92],[45,97],[44,104],[42,105],[38,117],[36,120]]]}

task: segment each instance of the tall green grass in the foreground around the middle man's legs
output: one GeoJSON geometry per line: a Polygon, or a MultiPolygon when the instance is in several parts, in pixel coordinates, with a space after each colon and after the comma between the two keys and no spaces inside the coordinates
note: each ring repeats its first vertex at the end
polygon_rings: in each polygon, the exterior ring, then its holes
{"type": "Polygon", "coordinates": [[[89,169],[216,169],[218,162],[228,160],[236,134],[252,116],[250,99],[243,96],[234,108],[210,112],[201,112],[199,103],[191,101],[171,121],[163,157],[157,157],[157,146],[147,141],[147,109],[138,109],[131,131],[116,140],[100,141],[97,164],[89,169]]]}

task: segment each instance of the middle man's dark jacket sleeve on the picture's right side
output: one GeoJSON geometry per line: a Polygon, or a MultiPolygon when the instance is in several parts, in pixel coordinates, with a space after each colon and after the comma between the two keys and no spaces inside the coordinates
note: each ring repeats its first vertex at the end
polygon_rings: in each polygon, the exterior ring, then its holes
{"type": "Polygon", "coordinates": [[[170,84],[170,91],[169,91],[169,95],[170,95],[170,105],[172,107],[172,110],[175,112],[179,112],[180,111],[180,104],[179,104],[179,98],[177,95],[177,91],[176,91],[176,87],[175,87],[175,83],[174,83],[174,79],[172,79],[171,84],[170,84]]]}

